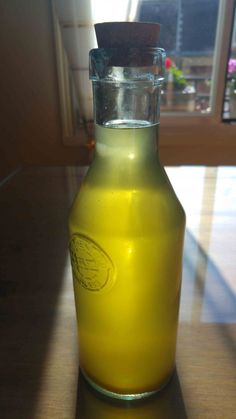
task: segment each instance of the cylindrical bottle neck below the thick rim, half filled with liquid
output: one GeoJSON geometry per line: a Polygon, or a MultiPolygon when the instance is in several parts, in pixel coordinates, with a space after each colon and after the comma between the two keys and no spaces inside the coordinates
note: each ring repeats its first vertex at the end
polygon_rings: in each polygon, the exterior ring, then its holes
{"type": "Polygon", "coordinates": [[[160,87],[149,82],[93,82],[96,152],[140,162],[157,151],[160,87]]]}

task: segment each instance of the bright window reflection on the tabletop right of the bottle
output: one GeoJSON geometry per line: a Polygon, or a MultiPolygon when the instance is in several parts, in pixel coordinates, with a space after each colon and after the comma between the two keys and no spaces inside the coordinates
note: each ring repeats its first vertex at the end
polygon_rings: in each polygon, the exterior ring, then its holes
{"type": "Polygon", "coordinates": [[[185,170],[167,169],[187,215],[180,320],[235,323],[236,171],[185,170]]]}

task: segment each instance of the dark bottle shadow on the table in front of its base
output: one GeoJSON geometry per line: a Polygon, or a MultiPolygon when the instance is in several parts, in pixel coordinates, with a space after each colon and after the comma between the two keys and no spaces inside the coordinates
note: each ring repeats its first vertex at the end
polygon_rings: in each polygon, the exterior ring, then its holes
{"type": "Polygon", "coordinates": [[[169,384],[143,400],[116,400],[95,391],[79,374],[75,419],[187,419],[175,371],[169,384]]]}

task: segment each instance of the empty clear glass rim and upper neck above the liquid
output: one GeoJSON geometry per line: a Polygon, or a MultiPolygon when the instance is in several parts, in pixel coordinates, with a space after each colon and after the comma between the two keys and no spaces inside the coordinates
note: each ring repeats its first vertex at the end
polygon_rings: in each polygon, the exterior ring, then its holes
{"type": "Polygon", "coordinates": [[[164,61],[164,50],[156,47],[91,50],[95,123],[158,124],[164,61]]]}

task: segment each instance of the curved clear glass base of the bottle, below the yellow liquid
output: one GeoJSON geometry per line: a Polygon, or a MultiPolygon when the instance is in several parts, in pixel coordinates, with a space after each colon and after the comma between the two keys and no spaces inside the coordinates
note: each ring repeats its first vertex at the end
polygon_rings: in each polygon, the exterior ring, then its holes
{"type": "Polygon", "coordinates": [[[144,399],[144,398],[150,397],[150,396],[158,393],[159,391],[161,391],[167,385],[167,383],[170,380],[170,379],[168,379],[167,382],[164,383],[163,386],[161,386],[160,388],[158,388],[154,391],[147,391],[147,392],[144,392],[144,393],[124,394],[124,393],[116,393],[114,391],[110,391],[110,390],[107,390],[107,389],[99,386],[97,383],[95,383],[93,380],[91,380],[91,378],[88,377],[88,375],[81,368],[80,368],[80,371],[83,374],[83,377],[85,378],[85,380],[88,382],[88,384],[90,384],[90,386],[93,387],[96,391],[103,394],[104,396],[112,397],[112,398],[119,399],[119,400],[139,400],[139,399],[144,399]]]}

